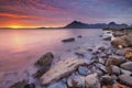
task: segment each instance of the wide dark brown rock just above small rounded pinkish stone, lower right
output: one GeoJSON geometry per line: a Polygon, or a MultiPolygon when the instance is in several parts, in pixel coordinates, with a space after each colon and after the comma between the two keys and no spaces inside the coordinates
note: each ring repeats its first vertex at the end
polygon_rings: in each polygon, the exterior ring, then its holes
{"type": "Polygon", "coordinates": [[[110,66],[110,65],[118,66],[124,62],[125,62],[125,58],[123,56],[112,55],[106,61],[106,66],[110,66]]]}

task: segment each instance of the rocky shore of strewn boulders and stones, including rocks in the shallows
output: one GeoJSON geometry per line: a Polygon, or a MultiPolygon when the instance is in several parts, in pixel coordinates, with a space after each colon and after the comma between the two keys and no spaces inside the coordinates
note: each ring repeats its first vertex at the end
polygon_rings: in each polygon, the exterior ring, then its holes
{"type": "Polygon", "coordinates": [[[54,54],[44,54],[34,63],[36,72],[28,72],[35,81],[23,79],[9,88],[132,88],[132,34],[112,31],[112,35],[114,40],[102,40],[94,47],[70,50],[55,65],[54,54]]]}

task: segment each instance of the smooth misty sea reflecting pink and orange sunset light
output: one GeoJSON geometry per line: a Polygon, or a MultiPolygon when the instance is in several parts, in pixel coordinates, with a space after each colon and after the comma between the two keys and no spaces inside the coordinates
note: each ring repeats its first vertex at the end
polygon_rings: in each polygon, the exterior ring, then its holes
{"type": "Polygon", "coordinates": [[[85,44],[85,42],[92,44],[101,34],[101,29],[1,29],[0,88],[21,80],[22,73],[28,70],[45,53],[53,53],[54,62],[57,62],[57,58],[66,51],[85,44]],[[81,35],[84,40],[77,37],[78,35],[81,35]],[[75,42],[62,42],[62,40],[69,37],[75,37],[75,42]]]}

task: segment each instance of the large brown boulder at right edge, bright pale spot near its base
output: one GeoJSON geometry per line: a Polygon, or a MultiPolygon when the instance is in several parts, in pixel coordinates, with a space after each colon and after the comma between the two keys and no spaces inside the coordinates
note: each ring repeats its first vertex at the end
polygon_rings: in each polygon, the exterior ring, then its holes
{"type": "Polygon", "coordinates": [[[128,47],[132,46],[132,35],[123,35],[111,41],[111,44],[116,47],[128,47]]]}

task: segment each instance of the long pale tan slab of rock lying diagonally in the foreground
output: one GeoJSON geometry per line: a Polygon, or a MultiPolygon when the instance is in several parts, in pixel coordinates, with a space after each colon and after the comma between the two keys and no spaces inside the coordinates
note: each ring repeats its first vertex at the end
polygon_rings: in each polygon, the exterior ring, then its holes
{"type": "Polygon", "coordinates": [[[47,85],[53,80],[58,80],[65,76],[70,75],[75,72],[78,66],[86,64],[81,58],[66,58],[59,61],[54,67],[46,72],[41,78],[40,81],[42,85],[47,85]]]}

